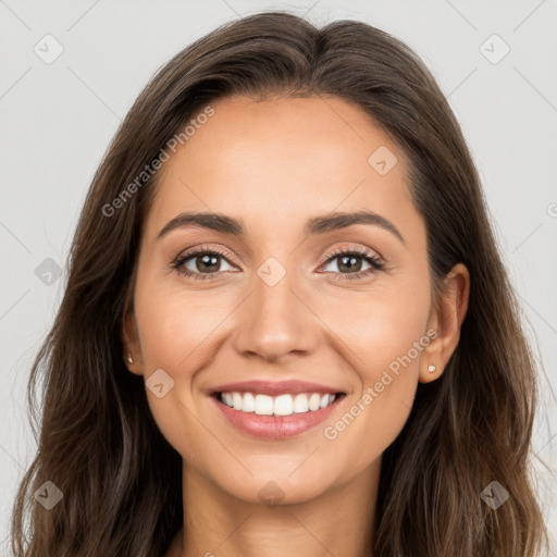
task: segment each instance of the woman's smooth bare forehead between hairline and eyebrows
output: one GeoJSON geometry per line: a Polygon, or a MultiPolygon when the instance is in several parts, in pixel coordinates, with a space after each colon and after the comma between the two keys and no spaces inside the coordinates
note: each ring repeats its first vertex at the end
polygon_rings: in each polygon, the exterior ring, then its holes
{"type": "Polygon", "coordinates": [[[301,227],[334,210],[412,211],[404,153],[359,107],[323,96],[210,106],[213,114],[169,152],[148,216],[151,237],[185,210],[242,216],[248,227],[270,219],[296,226],[298,218],[301,227]]]}

